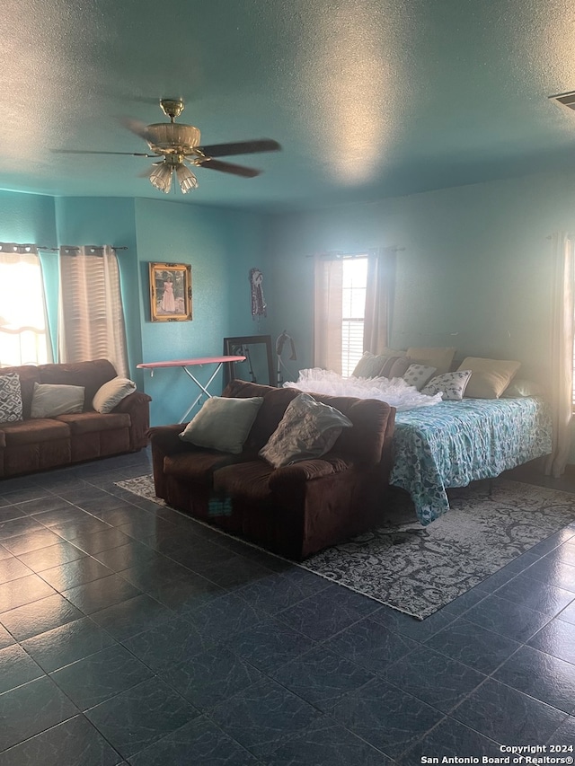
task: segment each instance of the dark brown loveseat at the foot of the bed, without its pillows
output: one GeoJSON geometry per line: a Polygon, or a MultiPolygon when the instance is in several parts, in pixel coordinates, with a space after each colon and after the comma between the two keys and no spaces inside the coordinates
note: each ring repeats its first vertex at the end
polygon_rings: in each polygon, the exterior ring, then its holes
{"type": "Polygon", "coordinates": [[[258,451],[298,393],[239,380],[226,386],[226,397],[263,397],[241,454],[182,442],[181,424],[151,428],[156,495],[296,560],[378,524],[385,514],[395,409],[382,401],[314,394],[353,426],[322,458],[274,469],[258,451]]]}

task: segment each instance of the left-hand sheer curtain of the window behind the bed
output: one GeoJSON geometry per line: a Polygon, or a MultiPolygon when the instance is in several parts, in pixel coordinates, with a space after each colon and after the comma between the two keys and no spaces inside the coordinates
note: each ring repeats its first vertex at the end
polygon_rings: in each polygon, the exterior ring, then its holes
{"type": "Polygon", "coordinates": [[[341,259],[316,256],[314,276],[314,366],[341,374],[341,259]]]}

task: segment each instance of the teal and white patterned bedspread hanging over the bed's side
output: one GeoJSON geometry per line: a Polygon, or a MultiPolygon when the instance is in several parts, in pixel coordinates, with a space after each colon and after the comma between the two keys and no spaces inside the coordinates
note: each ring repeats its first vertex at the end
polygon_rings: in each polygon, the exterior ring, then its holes
{"type": "Polygon", "coordinates": [[[447,488],[550,453],[551,435],[539,397],[441,401],[398,412],[390,483],[410,493],[421,524],[429,524],[449,509],[447,488]]]}

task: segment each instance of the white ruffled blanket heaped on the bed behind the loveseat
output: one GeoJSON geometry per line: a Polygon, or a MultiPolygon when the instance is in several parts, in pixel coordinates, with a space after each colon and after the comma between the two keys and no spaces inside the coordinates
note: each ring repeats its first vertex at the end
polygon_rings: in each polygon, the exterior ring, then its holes
{"type": "Polygon", "coordinates": [[[379,399],[402,412],[405,409],[429,407],[441,401],[441,393],[428,396],[403,378],[344,378],[331,370],[313,367],[300,370],[296,383],[284,383],[286,388],[298,391],[327,393],[331,396],[355,396],[358,399],[379,399]]]}

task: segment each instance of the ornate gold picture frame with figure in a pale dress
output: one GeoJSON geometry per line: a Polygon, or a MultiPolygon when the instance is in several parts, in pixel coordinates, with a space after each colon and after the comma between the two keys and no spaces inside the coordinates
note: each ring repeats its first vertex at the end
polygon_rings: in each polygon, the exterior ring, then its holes
{"type": "Polygon", "coordinates": [[[191,266],[189,263],[149,264],[152,321],[191,321],[191,266]]]}

